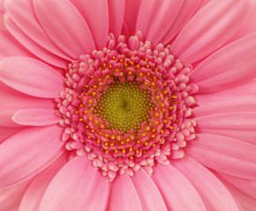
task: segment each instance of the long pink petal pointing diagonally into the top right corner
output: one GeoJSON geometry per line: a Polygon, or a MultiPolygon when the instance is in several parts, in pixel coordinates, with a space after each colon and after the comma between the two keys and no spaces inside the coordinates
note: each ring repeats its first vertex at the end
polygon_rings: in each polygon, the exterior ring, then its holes
{"type": "Polygon", "coordinates": [[[213,53],[244,23],[251,7],[250,0],[211,1],[177,35],[173,54],[189,64],[213,53]]]}

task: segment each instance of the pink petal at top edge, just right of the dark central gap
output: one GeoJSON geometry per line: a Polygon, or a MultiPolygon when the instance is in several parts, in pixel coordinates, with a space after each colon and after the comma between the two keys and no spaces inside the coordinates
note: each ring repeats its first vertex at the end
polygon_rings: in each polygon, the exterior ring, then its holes
{"type": "Polygon", "coordinates": [[[136,31],[141,31],[155,46],[168,32],[182,4],[183,1],[176,0],[142,0],[136,31]]]}

